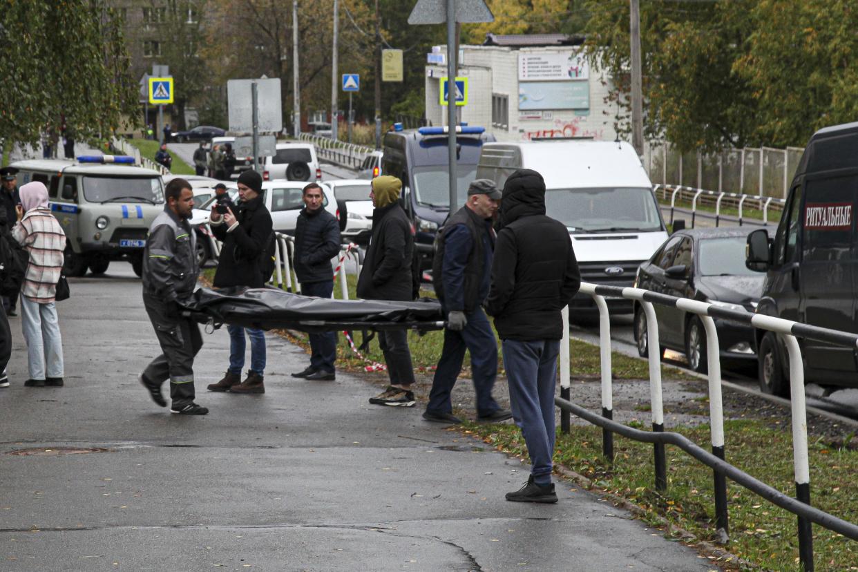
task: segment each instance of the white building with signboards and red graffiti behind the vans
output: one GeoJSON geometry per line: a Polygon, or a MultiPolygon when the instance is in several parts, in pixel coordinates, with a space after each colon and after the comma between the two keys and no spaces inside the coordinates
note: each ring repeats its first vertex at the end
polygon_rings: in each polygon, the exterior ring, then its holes
{"type": "MultiPolygon", "coordinates": [[[[459,108],[461,121],[486,127],[498,141],[616,139],[618,108],[606,103],[616,87],[593,73],[571,41],[565,34],[487,34],[486,44],[494,45],[462,45],[459,77],[468,80],[468,100],[459,108]]],[[[426,119],[446,125],[447,107],[440,104],[446,46],[434,47],[426,59],[426,119]]]]}

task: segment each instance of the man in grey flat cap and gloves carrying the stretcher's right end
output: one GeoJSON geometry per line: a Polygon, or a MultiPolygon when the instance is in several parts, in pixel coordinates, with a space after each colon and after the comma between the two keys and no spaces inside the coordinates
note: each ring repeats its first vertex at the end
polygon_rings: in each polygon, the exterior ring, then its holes
{"type": "Polygon", "coordinates": [[[423,418],[438,423],[461,423],[453,415],[450,392],[462,371],[465,350],[471,353],[471,371],[477,396],[477,419],[503,421],[511,412],[492,398],[498,375],[498,344],[482,303],[492,276],[495,233],[493,216],[500,190],[486,178],[468,187],[468,201],[451,214],[435,238],[432,281],[447,315],[444,349],[432,379],[432,392],[423,418]]]}

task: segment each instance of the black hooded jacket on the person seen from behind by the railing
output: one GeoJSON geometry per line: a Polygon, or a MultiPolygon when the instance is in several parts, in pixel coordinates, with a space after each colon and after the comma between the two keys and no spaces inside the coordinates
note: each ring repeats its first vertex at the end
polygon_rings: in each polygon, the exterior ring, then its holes
{"type": "Polygon", "coordinates": [[[566,226],[545,214],[545,182],[530,169],[504,185],[486,312],[501,340],[559,340],[560,310],[581,286],[566,226]]]}

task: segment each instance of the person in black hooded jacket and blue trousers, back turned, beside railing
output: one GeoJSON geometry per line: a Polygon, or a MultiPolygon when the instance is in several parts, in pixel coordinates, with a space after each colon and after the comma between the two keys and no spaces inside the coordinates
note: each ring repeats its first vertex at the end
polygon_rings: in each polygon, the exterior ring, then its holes
{"type": "Polygon", "coordinates": [[[486,312],[504,351],[512,416],[533,467],[506,500],[556,503],[551,482],[554,386],[563,321],[560,310],[581,286],[565,225],[545,214],[545,181],[530,169],[506,179],[486,312]]]}

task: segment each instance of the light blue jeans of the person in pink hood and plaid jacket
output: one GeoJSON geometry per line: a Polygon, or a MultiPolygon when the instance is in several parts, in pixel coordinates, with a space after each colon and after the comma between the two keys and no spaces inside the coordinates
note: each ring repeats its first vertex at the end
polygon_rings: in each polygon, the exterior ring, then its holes
{"type": "Polygon", "coordinates": [[[21,296],[21,329],[27,340],[30,379],[63,376],[63,336],[59,332],[57,306],[39,304],[21,296]]]}

